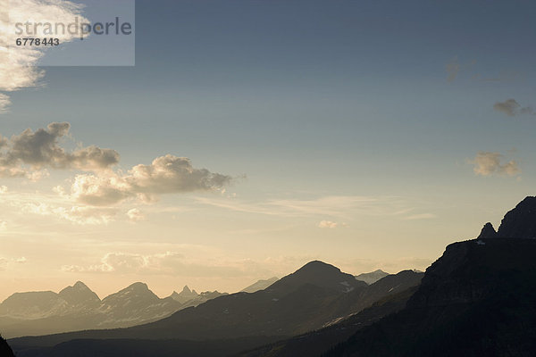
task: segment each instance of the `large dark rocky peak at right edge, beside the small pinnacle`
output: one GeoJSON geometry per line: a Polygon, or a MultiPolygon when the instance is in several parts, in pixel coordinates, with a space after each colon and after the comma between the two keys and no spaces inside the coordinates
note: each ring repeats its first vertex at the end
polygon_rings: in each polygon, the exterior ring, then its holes
{"type": "Polygon", "coordinates": [[[507,212],[497,232],[502,238],[536,238],[536,197],[528,196],[507,212]]]}

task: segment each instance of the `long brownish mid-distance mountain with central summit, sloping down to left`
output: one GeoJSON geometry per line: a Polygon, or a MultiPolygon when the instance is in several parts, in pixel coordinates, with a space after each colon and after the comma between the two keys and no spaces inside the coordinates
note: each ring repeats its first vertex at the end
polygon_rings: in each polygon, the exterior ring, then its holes
{"type": "MultiPolygon", "coordinates": [[[[264,290],[253,294],[221,296],[150,324],[105,331],[24,337],[14,339],[12,343],[18,348],[17,351],[22,352],[25,351],[24,346],[55,345],[59,348],[59,344],[80,338],[91,339],[95,348],[101,345],[95,341],[104,338],[116,341],[124,339],[125,345],[132,339],[207,341],[255,336],[281,339],[333,326],[381,299],[418,286],[422,277],[423,273],[405,270],[368,286],[330,264],[315,261],[264,290]]],[[[384,313],[385,311],[387,310],[383,310],[384,313]]],[[[372,315],[368,316],[373,319],[372,315]]],[[[99,354],[95,349],[92,351],[94,355],[99,354]]]]}

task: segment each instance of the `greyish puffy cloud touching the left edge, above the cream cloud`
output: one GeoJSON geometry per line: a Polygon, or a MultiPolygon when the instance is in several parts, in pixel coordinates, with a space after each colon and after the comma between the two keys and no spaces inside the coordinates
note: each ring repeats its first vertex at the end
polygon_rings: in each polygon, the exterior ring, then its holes
{"type": "Polygon", "coordinates": [[[115,150],[95,145],[65,150],[59,141],[69,136],[70,129],[68,122],[53,122],[46,129],[26,129],[10,139],[0,137],[0,177],[35,180],[44,175],[44,168],[106,170],[119,162],[115,150]]]}

